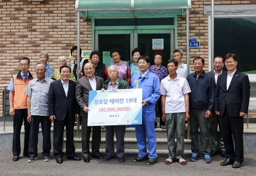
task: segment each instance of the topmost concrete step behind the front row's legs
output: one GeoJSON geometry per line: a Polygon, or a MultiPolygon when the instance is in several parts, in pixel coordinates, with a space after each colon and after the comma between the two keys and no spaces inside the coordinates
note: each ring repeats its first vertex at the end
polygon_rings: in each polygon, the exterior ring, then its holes
{"type": "MultiPolygon", "coordinates": [[[[65,131],[66,129],[64,129],[65,131]]],[[[93,131],[93,130],[92,130],[93,131]]],[[[92,137],[92,131],[91,131],[91,136],[92,137]]],[[[166,129],[162,129],[162,128],[156,128],[155,129],[156,132],[156,138],[167,138],[167,134],[166,134],[166,129]]],[[[82,128],[80,127],[80,131],[79,131],[80,137],[82,136],[82,128]]],[[[74,127],[74,137],[77,136],[77,127],[74,127]]],[[[66,133],[64,132],[64,137],[66,137],[66,133]]],[[[106,130],[105,129],[101,129],[101,137],[105,138],[106,137],[106,130]]],[[[114,135],[114,137],[116,137],[116,134],[114,135]]],[[[126,128],[125,130],[125,138],[136,138],[136,133],[135,133],[135,128],[126,128]]],[[[174,138],[176,138],[176,131],[174,132],[174,138]]],[[[185,130],[185,139],[188,138],[188,130],[185,130]]]]}

